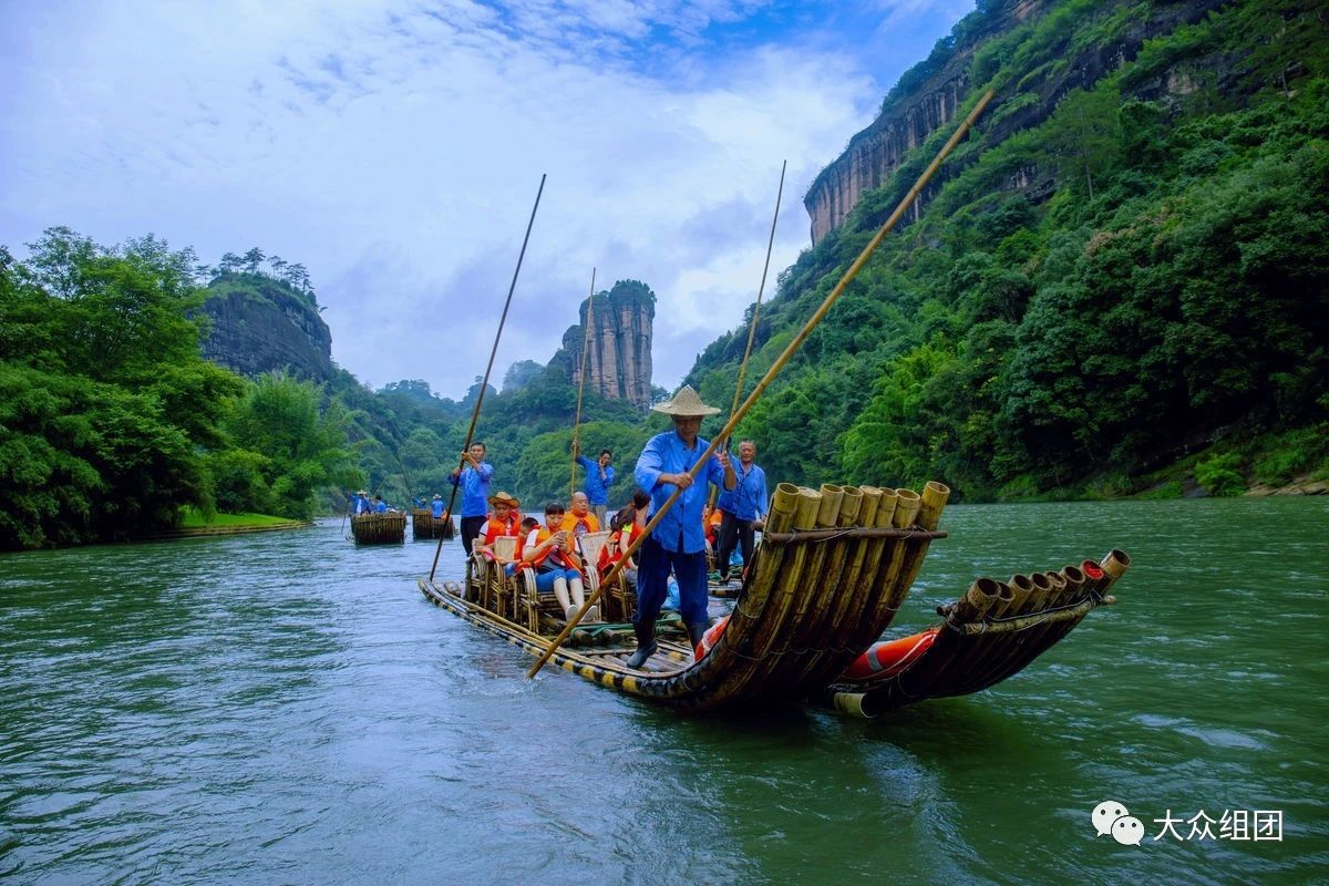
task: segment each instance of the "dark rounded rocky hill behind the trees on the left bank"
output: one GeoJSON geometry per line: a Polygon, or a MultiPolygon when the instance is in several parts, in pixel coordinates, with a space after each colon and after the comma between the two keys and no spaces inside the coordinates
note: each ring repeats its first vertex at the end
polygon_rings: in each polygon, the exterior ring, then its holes
{"type": "Polygon", "coordinates": [[[332,332],[307,294],[260,274],[223,274],[207,287],[203,356],[241,375],[287,371],[332,377],[332,332]]]}

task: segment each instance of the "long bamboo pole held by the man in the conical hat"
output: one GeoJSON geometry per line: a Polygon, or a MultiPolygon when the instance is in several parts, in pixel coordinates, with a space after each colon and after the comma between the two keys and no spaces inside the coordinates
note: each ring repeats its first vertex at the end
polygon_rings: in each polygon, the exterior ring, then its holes
{"type": "MultiPolygon", "coordinates": [[[[780,356],[775,359],[775,363],[771,364],[771,368],[767,369],[766,376],[763,376],[763,379],[756,384],[756,387],[752,389],[752,393],[750,393],[747,400],[743,401],[743,405],[739,406],[739,409],[732,416],[730,416],[730,420],[724,424],[724,428],[720,430],[720,433],[715,436],[715,440],[711,441],[711,445],[706,448],[706,452],[702,453],[702,457],[696,460],[696,464],[692,465],[692,469],[688,472],[688,476],[691,476],[692,480],[696,480],[696,476],[710,462],[711,456],[719,448],[719,442],[722,440],[726,440],[734,432],[735,425],[738,425],[739,421],[743,420],[743,416],[746,416],[748,409],[752,408],[752,404],[755,404],[762,397],[762,393],[764,393],[766,389],[771,385],[771,383],[775,380],[775,376],[780,373],[780,369],[784,368],[784,364],[789,361],[789,357],[793,356],[793,352],[799,349],[799,347],[804,343],[804,340],[807,340],[809,335],[812,335],[812,331],[817,327],[819,323],[821,323],[823,317],[825,317],[825,315],[831,311],[831,308],[835,307],[835,303],[840,300],[840,296],[844,295],[844,291],[849,287],[849,283],[853,282],[853,278],[859,275],[859,271],[861,271],[863,266],[868,263],[868,259],[872,258],[872,254],[877,251],[877,247],[881,244],[881,240],[884,240],[886,234],[890,232],[890,228],[893,228],[900,222],[905,211],[908,211],[909,206],[914,202],[914,199],[917,199],[918,194],[932,179],[933,174],[936,174],[937,169],[942,165],[946,157],[950,155],[950,151],[956,149],[956,145],[958,145],[960,139],[965,137],[965,134],[969,132],[969,128],[973,126],[974,121],[978,120],[978,116],[983,113],[983,109],[987,108],[987,104],[993,100],[993,94],[994,93],[991,90],[987,90],[986,93],[982,94],[982,97],[974,105],[974,109],[969,112],[969,116],[965,117],[965,120],[960,124],[954,134],[946,141],[945,145],[942,145],[941,150],[937,153],[937,157],[933,158],[932,163],[928,165],[928,169],[922,171],[922,174],[918,177],[918,181],[913,183],[913,187],[909,189],[909,193],[906,193],[904,198],[900,201],[900,203],[896,206],[894,211],[890,214],[890,218],[888,218],[885,223],[882,223],[881,230],[878,230],[876,235],[868,242],[868,244],[863,247],[863,252],[859,254],[859,258],[853,260],[853,264],[849,266],[849,270],[844,272],[844,276],[840,278],[840,282],[836,283],[835,288],[831,290],[831,294],[827,295],[821,306],[813,312],[812,317],[804,324],[804,327],[799,331],[799,333],[793,336],[789,344],[780,353],[780,356]]],[[[548,662],[550,656],[553,656],[554,651],[558,650],[560,646],[562,646],[563,640],[567,639],[567,635],[571,634],[573,628],[577,627],[577,623],[581,622],[582,616],[599,599],[603,590],[607,586],[610,586],[615,578],[618,578],[618,575],[623,571],[625,565],[633,558],[633,555],[637,553],[637,549],[641,547],[642,542],[646,541],[646,538],[650,537],[650,534],[655,530],[655,526],[659,525],[664,514],[667,514],[670,509],[674,507],[674,502],[678,501],[678,497],[680,494],[683,494],[683,490],[675,489],[674,494],[670,495],[668,499],[666,499],[666,502],[661,506],[658,511],[655,511],[655,517],[653,517],[651,522],[646,523],[646,527],[637,535],[637,538],[633,539],[633,543],[623,554],[623,558],[617,563],[614,563],[614,567],[605,576],[605,580],[601,582],[601,586],[595,588],[586,598],[586,602],[582,603],[582,607],[573,614],[573,616],[567,620],[567,624],[563,626],[563,630],[558,634],[558,636],[556,636],[549,643],[549,648],[545,650],[545,654],[540,656],[540,660],[537,660],[536,664],[530,668],[530,671],[526,672],[528,677],[533,677],[537,673],[540,673],[540,668],[545,667],[545,662],[548,662]]]]}

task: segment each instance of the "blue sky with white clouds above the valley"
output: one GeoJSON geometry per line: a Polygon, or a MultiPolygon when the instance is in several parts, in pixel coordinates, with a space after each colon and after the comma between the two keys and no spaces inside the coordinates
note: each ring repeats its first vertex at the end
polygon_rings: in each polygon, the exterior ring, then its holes
{"type": "Polygon", "coordinates": [[[303,263],[332,359],[460,397],[597,290],[655,384],[809,244],[803,195],[973,0],[0,0],[0,243],[155,232],[303,263]]]}

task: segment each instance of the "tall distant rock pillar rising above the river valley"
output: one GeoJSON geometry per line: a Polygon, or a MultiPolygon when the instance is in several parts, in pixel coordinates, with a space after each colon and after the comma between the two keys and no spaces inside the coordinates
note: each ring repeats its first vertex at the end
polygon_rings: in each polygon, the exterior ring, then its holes
{"type": "MultiPolygon", "coordinates": [[[[610,400],[627,400],[646,412],[651,405],[651,331],[655,294],[638,280],[619,280],[594,296],[594,317],[586,356],[586,391],[610,400]]],[[[550,367],[581,383],[582,341],[590,299],[581,304],[581,323],[569,327],[550,367]]]]}

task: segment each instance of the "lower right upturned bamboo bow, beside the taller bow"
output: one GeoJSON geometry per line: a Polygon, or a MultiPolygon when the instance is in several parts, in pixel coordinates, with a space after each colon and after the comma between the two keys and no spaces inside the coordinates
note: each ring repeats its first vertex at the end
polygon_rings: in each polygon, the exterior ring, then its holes
{"type": "Polygon", "coordinates": [[[1009,582],[979,578],[960,600],[938,607],[938,626],[906,638],[922,640],[910,647],[921,655],[888,662],[867,679],[841,676],[816,701],[874,717],[925,699],[986,689],[1022,671],[1094,608],[1115,603],[1107,591],[1130,565],[1126,551],[1112,550],[1100,563],[1084,561],[1009,582]]]}

